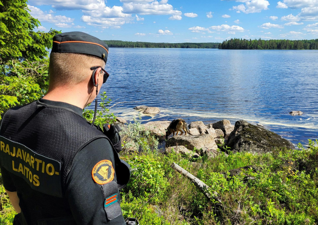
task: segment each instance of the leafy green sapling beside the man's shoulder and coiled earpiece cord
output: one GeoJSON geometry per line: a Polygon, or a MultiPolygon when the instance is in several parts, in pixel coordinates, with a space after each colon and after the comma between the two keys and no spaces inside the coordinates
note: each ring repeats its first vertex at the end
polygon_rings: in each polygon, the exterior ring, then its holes
{"type": "MultiPolygon", "coordinates": [[[[111,103],[111,99],[107,98],[106,92],[100,93],[100,110],[96,111],[96,119],[94,124],[103,128],[105,123],[115,123],[116,116],[114,113],[109,113],[109,104],[111,103]]],[[[91,109],[84,109],[83,110],[83,117],[88,120],[92,121],[94,117],[94,110],[91,109]]]]}

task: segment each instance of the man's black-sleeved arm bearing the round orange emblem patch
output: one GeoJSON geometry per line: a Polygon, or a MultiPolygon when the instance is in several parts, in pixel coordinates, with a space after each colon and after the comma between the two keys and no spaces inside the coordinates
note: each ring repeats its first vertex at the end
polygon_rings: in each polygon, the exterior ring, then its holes
{"type": "Polygon", "coordinates": [[[125,224],[114,153],[106,138],[93,140],[80,150],[69,170],[66,197],[77,224],[125,224]]]}

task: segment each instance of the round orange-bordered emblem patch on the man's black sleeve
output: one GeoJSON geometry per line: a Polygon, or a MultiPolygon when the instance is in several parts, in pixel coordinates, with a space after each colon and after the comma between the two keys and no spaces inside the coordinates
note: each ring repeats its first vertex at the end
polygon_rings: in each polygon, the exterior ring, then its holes
{"type": "Polygon", "coordinates": [[[99,161],[92,170],[93,180],[98,184],[107,184],[114,179],[115,170],[109,160],[99,161]]]}

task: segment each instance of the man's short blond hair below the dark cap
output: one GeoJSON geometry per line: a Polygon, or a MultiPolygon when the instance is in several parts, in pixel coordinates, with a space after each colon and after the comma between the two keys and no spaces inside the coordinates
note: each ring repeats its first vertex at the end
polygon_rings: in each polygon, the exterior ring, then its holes
{"type": "Polygon", "coordinates": [[[105,61],[96,56],[79,53],[51,52],[50,54],[50,86],[76,85],[92,76],[93,66],[104,68],[105,61]]]}

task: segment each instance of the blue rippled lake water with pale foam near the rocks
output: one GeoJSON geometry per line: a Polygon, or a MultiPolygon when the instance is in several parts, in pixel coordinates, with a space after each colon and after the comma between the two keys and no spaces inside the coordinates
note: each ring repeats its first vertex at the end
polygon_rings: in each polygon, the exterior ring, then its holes
{"type": "Polygon", "coordinates": [[[106,69],[102,91],[128,121],[147,105],[161,113],[143,122],[245,119],[294,144],[318,139],[318,51],[110,48],[106,69]]]}

